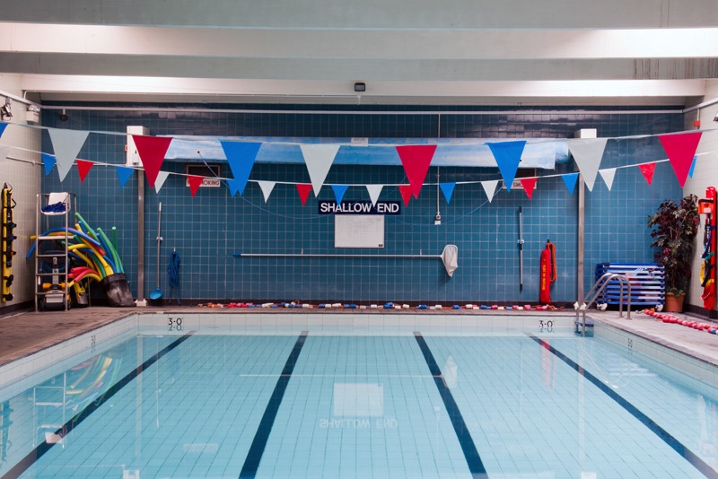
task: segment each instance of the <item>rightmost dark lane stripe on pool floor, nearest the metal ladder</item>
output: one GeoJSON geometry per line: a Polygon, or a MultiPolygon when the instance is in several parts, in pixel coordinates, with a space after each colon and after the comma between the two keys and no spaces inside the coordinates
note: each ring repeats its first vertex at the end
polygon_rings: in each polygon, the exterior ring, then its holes
{"type": "Polygon", "coordinates": [[[616,391],[609,388],[609,386],[606,386],[606,384],[603,383],[600,379],[593,376],[589,371],[584,370],[582,366],[579,366],[577,363],[566,357],[564,353],[558,351],[551,344],[548,344],[546,341],[535,335],[529,335],[529,337],[536,341],[538,344],[540,344],[542,347],[546,348],[551,353],[555,354],[558,359],[564,361],[566,364],[574,368],[574,370],[581,374],[585,379],[591,381],[591,383],[595,387],[599,388],[601,391],[606,393],[607,396],[616,401],[618,405],[626,409],[626,411],[628,411],[630,414],[633,414],[633,416],[638,421],[643,422],[644,426],[650,429],[656,436],[661,438],[661,440],[668,444],[670,448],[672,448],[682,457],[684,457],[691,464],[691,466],[696,467],[696,469],[698,469],[703,475],[705,475],[705,477],[718,478],[718,472],[716,472],[713,467],[706,464],[705,461],[700,457],[697,457],[696,453],[694,453],[690,449],[687,449],[687,447],[683,445],[682,442],[674,438],[669,431],[666,431],[665,429],[661,428],[661,426],[656,424],[656,422],[654,422],[650,417],[645,415],[640,409],[635,407],[635,405],[629,403],[623,396],[619,395],[616,391]]]}

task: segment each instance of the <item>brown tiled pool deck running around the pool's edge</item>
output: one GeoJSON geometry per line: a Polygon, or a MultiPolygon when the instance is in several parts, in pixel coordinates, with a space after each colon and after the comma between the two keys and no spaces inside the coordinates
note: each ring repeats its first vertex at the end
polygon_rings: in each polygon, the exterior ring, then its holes
{"type": "MultiPolygon", "coordinates": [[[[92,331],[125,318],[131,314],[172,313],[172,314],[419,314],[419,315],[477,315],[495,316],[574,316],[572,310],[561,311],[496,311],[469,309],[215,309],[187,307],[146,307],[146,308],[103,308],[91,307],[70,311],[20,312],[0,317],[0,366],[36,353],[54,344],[60,344],[76,335],[92,331]]],[[[705,318],[676,315],[699,322],[705,318]]],[[[617,327],[633,335],[687,353],[718,367],[718,335],[711,335],[690,327],[666,324],[642,313],[632,313],[632,319],[619,318],[616,311],[589,311],[589,317],[596,322],[617,327]]],[[[716,327],[715,323],[713,323],[716,327]]]]}

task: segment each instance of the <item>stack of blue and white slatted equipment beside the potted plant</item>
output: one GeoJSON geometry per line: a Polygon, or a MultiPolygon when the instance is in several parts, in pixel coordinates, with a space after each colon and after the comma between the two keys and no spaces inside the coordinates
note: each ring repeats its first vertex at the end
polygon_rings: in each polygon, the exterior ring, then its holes
{"type": "MultiPolygon", "coordinates": [[[[631,283],[631,306],[658,306],[665,303],[666,285],[663,266],[652,263],[599,263],[596,280],[606,273],[625,274],[631,283]]],[[[618,304],[621,288],[617,280],[611,281],[600,293],[597,303],[618,304]]],[[[624,294],[627,294],[624,288],[624,294]]]]}

